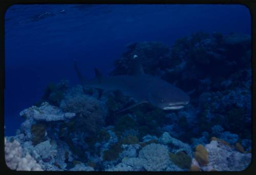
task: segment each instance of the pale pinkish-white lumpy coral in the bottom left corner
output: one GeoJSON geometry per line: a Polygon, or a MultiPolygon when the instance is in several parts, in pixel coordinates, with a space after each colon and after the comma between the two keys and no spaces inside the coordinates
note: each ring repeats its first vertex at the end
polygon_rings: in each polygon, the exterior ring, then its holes
{"type": "Polygon", "coordinates": [[[17,140],[8,142],[5,138],[5,161],[12,170],[41,171],[42,168],[28,153],[23,153],[23,148],[17,140]]]}

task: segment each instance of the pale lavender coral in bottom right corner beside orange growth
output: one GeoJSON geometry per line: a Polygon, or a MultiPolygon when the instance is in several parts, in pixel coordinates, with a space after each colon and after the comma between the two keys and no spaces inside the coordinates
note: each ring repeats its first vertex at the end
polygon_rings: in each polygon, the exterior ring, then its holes
{"type": "Polygon", "coordinates": [[[212,140],[205,145],[208,152],[209,163],[202,166],[204,171],[212,169],[217,171],[242,171],[245,170],[251,162],[250,153],[240,153],[221,142],[212,140]]]}

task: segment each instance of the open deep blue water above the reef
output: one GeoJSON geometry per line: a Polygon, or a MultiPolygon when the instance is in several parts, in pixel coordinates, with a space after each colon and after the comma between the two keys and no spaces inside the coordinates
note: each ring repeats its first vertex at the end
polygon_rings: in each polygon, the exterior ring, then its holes
{"type": "Polygon", "coordinates": [[[193,32],[251,33],[242,5],[14,5],[5,15],[5,135],[24,121],[49,82],[78,84],[73,60],[88,78],[114,68],[125,45],[172,46],[193,32]]]}

